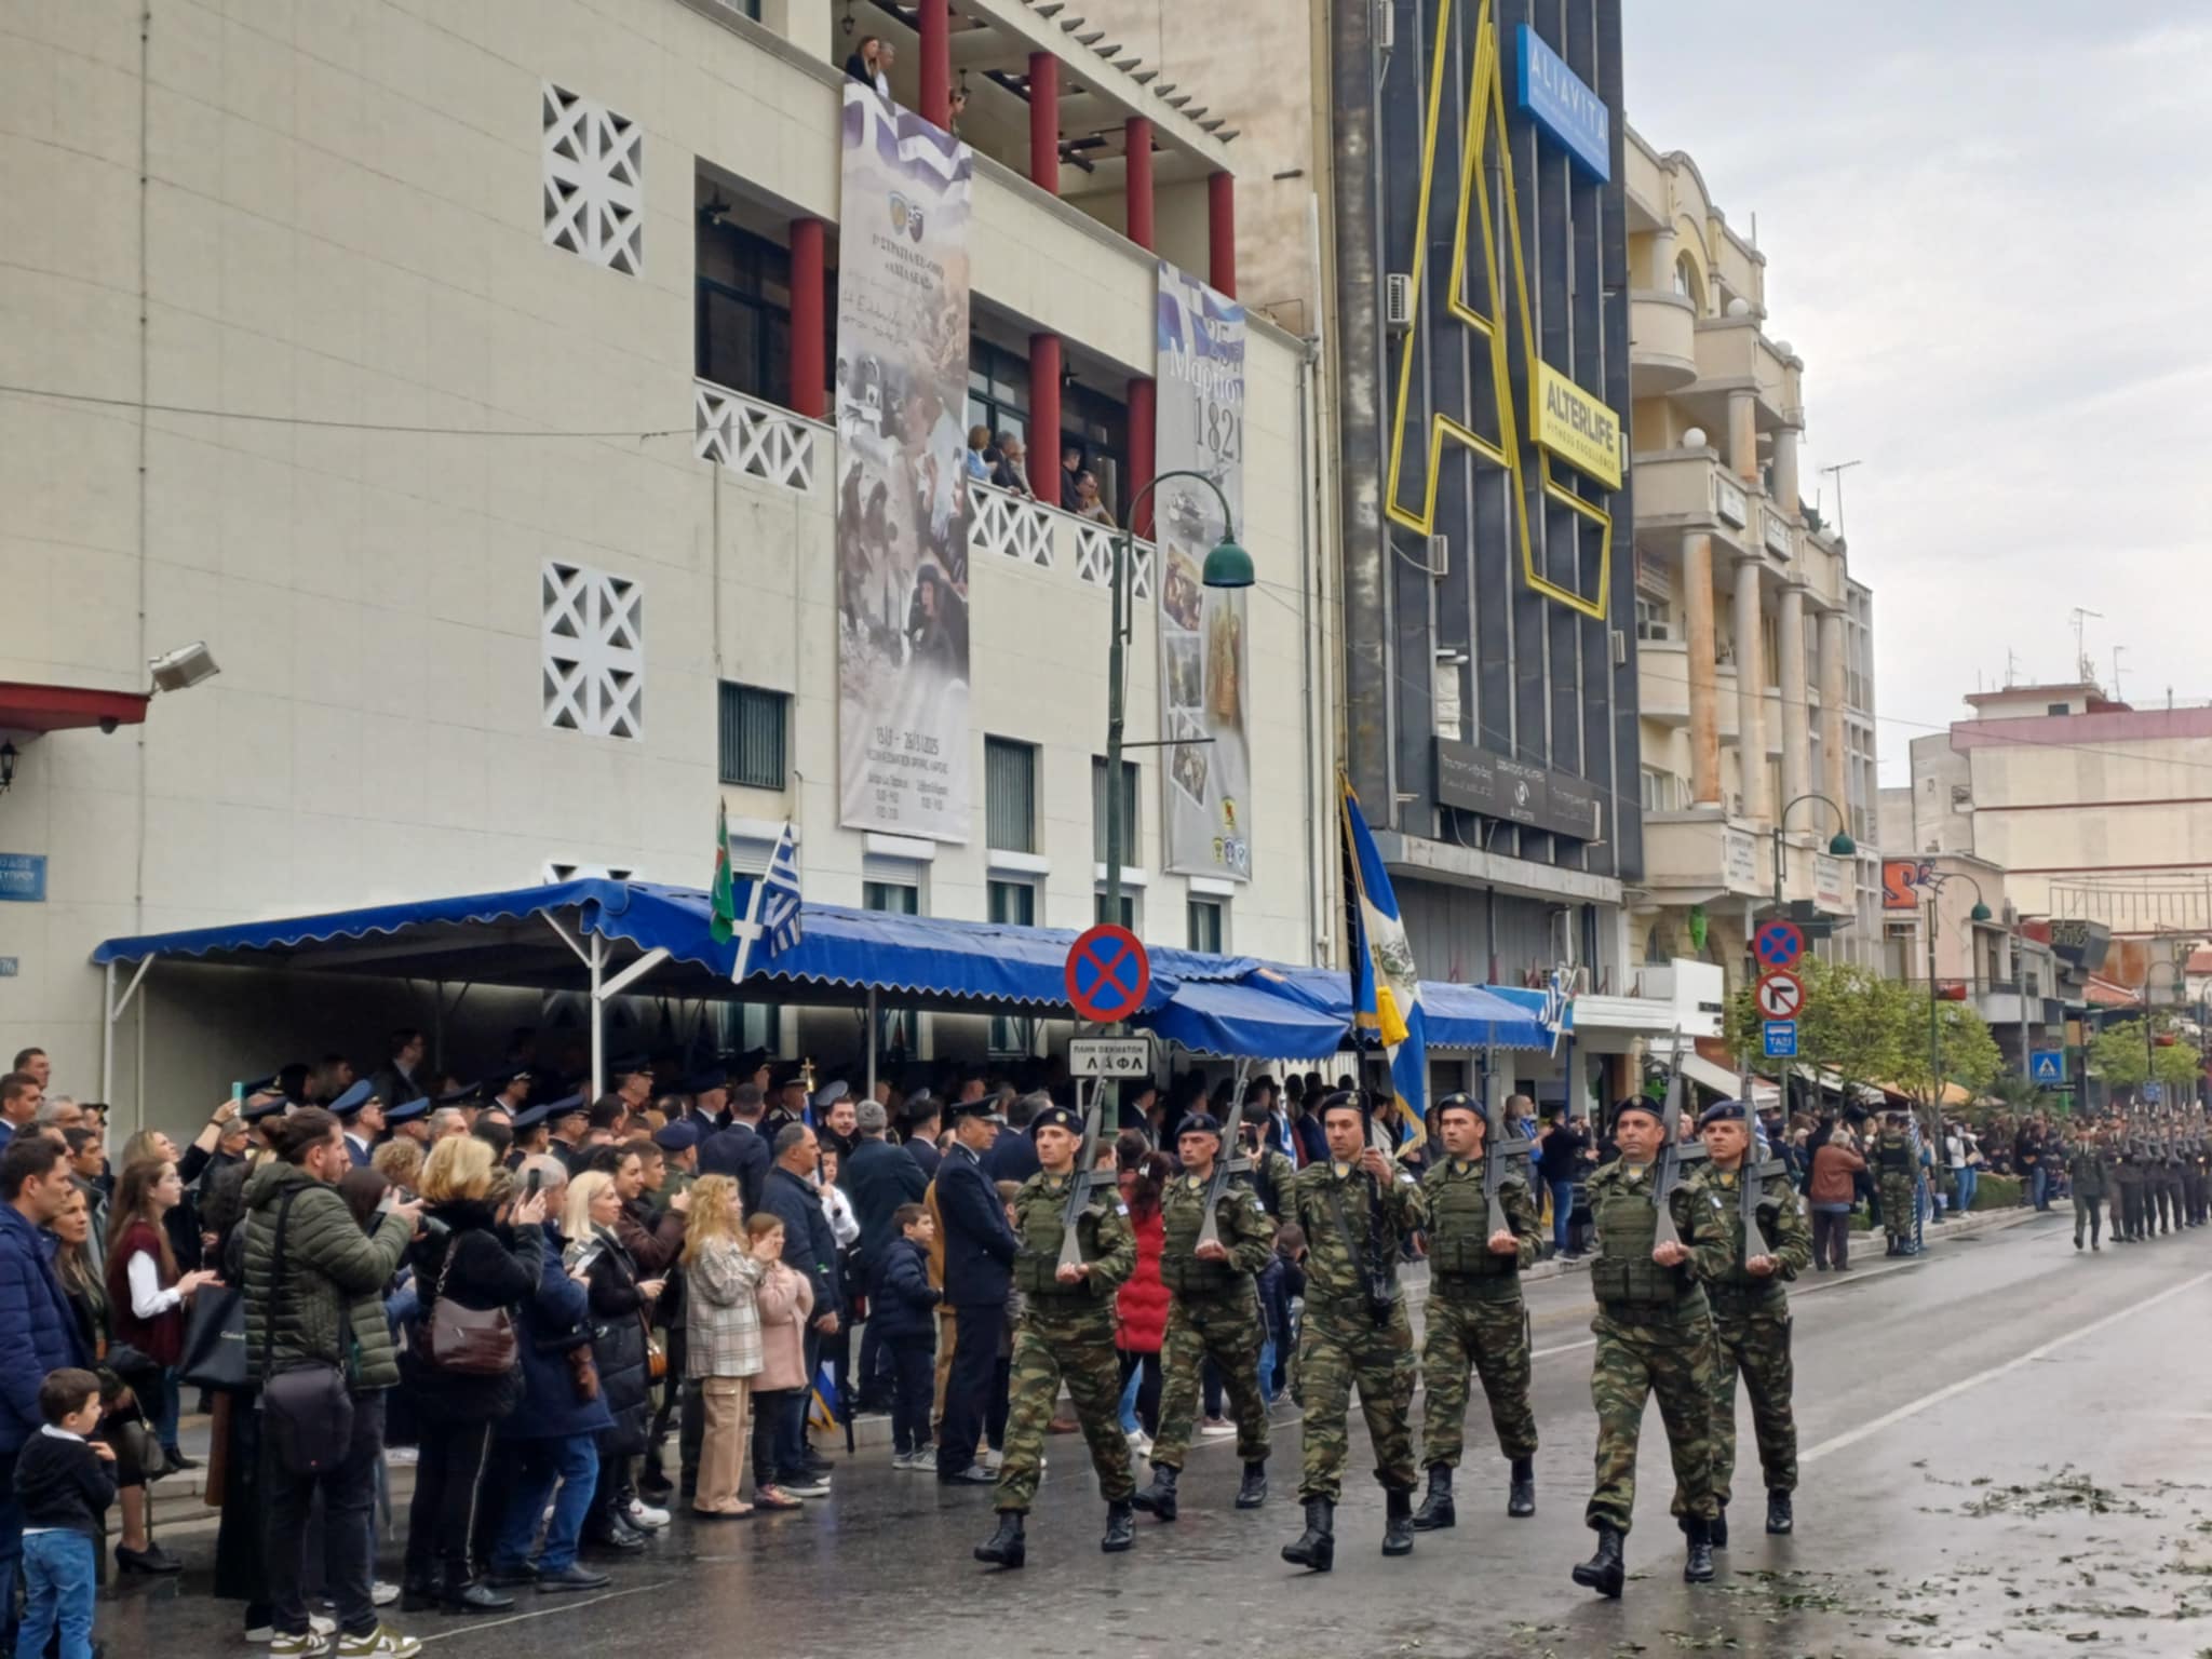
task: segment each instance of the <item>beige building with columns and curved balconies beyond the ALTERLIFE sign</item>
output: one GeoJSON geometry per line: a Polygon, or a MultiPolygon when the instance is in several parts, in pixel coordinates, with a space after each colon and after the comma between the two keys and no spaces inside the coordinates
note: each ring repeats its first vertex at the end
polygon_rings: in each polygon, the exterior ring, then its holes
{"type": "Polygon", "coordinates": [[[1805,365],[1767,261],[1681,150],[1630,133],[1635,630],[1646,962],[1743,971],[1781,909],[1880,962],[1874,595],[1805,500],[1805,365]]]}

